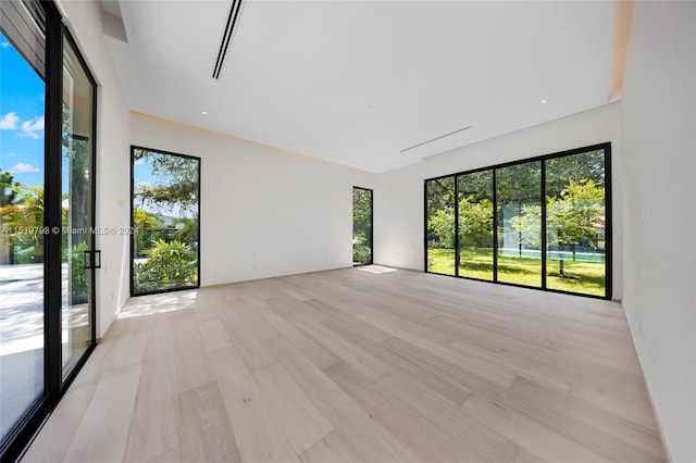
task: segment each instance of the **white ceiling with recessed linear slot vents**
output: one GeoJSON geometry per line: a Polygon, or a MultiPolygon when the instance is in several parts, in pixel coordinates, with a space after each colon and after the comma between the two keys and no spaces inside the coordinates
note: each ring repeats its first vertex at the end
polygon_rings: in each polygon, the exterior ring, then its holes
{"type": "Polygon", "coordinates": [[[111,1],[132,110],[365,171],[608,102],[611,1],[248,0],[219,80],[231,1],[111,1]]]}

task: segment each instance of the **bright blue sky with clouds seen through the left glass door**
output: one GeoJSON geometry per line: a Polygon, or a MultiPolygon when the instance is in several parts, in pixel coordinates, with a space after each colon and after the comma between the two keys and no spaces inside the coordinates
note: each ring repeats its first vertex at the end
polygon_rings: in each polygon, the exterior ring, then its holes
{"type": "Polygon", "coordinates": [[[0,167],[16,182],[44,183],[41,77],[0,34],[0,167]]]}

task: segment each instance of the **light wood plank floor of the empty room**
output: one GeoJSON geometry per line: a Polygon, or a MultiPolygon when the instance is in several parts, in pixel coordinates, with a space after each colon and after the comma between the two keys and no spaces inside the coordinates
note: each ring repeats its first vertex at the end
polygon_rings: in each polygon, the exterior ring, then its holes
{"type": "Polygon", "coordinates": [[[24,461],[663,459],[621,305],[346,268],[133,299],[24,461]]]}

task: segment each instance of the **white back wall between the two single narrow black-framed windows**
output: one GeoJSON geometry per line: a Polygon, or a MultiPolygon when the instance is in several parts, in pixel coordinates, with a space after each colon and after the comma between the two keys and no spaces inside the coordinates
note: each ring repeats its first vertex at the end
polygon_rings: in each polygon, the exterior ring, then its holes
{"type": "Polygon", "coordinates": [[[201,158],[201,285],[352,265],[352,187],[374,176],[132,114],[135,146],[201,158]]]}

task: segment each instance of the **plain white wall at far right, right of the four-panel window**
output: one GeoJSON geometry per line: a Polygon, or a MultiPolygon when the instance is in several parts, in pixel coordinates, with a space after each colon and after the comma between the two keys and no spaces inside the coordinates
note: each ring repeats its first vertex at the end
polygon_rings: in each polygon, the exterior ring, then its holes
{"type": "Polygon", "coordinates": [[[623,92],[624,308],[674,462],[696,461],[696,3],[636,2],[623,92]]]}

